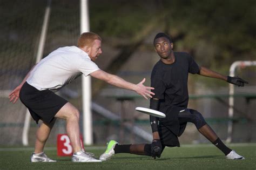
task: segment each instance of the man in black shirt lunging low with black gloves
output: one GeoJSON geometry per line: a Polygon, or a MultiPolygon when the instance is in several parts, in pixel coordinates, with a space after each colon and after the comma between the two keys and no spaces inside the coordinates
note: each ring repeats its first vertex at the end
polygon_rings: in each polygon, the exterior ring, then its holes
{"type": "Polygon", "coordinates": [[[171,37],[165,33],[158,33],[154,38],[154,47],[160,56],[151,73],[151,86],[155,95],[150,100],[150,108],[166,114],[166,118],[150,116],[153,132],[152,144],[119,145],[111,140],[107,150],[100,156],[100,160],[107,160],[116,153],[132,153],[149,155],[160,158],[165,146],[180,146],[178,137],[184,132],[187,122],[196,125],[213,145],[222,151],[227,159],[245,159],[228,148],[206,123],[201,113],[187,108],[188,73],[200,74],[227,81],[238,86],[244,86],[247,81],[238,77],[223,76],[198,64],[185,52],[173,52],[171,37]]]}

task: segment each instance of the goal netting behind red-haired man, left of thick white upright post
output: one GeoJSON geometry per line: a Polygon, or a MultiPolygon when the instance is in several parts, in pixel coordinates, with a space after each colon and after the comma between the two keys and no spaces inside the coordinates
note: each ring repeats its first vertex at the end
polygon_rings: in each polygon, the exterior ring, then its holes
{"type": "MultiPolygon", "coordinates": [[[[79,1],[18,1],[3,0],[1,11],[0,41],[0,145],[22,144],[22,131],[26,108],[20,100],[9,102],[8,94],[23,80],[36,63],[45,9],[50,4],[48,31],[43,57],[60,46],[76,45],[80,34],[79,1]],[[70,6],[73,5],[73,6],[70,6]]],[[[60,96],[73,100],[79,109],[80,79],[59,92],[60,96]],[[79,86],[79,88],[78,88],[79,86]]],[[[31,121],[29,144],[33,145],[36,124],[31,121]]],[[[51,135],[65,133],[64,123],[57,121],[51,135]]],[[[55,140],[55,138],[53,138],[55,140]]]]}

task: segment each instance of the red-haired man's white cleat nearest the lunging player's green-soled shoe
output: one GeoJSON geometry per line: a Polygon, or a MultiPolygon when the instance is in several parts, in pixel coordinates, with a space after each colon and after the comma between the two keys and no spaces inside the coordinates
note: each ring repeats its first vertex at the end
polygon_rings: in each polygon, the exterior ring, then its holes
{"type": "Polygon", "coordinates": [[[72,155],[72,162],[102,162],[101,160],[95,159],[91,154],[87,154],[86,152],[79,151],[72,155]]]}

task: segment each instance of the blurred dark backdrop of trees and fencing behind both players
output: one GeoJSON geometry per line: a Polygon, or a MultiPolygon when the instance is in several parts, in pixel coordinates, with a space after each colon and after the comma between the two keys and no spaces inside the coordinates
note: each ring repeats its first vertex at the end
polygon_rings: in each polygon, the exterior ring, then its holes
{"type": "MultiPolygon", "coordinates": [[[[153,38],[158,32],[171,35],[174,51],[190,53],[199,65],[225,75],[237,60],[256,60],[256,1],[254,0],[93,0],[89,2],[90,31],[103,38],[100,69],[132,83],[150,74],[159,56],[153,38]]],[[[0,1],[0,145],[22,145],[26,108],[9,103],[15,89],[36,63],[45,8],[48,1],[0,1]]],[[[43,57],[62,46],[76,45],[80,34],[79,0],[52,0],[43,57]]],[[[247,81],[235,87],[234,117],[228,118],[228,83],[190,75],[190,108],[201,112],[223,140],[228,121],[233,121],[232,142],[256,141],[256,67],[239,66],[235,75],[247,81]]],[[[82,110],[81,78],[58,92],[82,110]]],[[[134,110],[149,107],[149,100],[92,79],[93,142],[110,139],[122,143],[151,142],[149,116],[134,110]]],[[[35,141],[36,123],[31,121],[29,145],[35,141]]],[[[82,130],[82,119],[80,122],[82,130]]],[[[65,121],[57,120],[48,145],[65,133],[65,121]]],[[[207,143],[196,127],[188,124],[181,144],[207,143]]]]}

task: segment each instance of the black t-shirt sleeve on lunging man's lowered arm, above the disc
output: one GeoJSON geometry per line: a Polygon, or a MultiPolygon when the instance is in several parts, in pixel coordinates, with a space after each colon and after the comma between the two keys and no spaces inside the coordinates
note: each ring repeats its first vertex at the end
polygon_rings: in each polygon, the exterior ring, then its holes
{"type": "Polygon", "coordinates": [[[151,90],[154,93],[153,98],[164,99],[165,85],[161,79],[161,75],[154,67],[151,73],[151,87],[154,87],[154,90],[151,90]]]}

